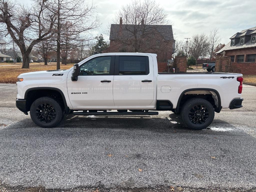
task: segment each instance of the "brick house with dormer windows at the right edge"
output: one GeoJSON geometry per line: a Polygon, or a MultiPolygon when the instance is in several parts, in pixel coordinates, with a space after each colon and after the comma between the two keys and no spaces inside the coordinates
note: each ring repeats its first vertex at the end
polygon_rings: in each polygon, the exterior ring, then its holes
{"type": "Polygon", "coordinates": [[[256,27],[234,34],[229,43],[215,54],[222,56],[223,51],[242,74],[256,74],[256,27]]]}

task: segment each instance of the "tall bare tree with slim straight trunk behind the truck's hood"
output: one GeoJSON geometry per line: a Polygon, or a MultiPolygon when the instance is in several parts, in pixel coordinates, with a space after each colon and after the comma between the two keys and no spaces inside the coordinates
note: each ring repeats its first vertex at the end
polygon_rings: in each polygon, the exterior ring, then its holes
{"type": "Polygon", "coordinates": [[[54,23],[57,41],[57,69],[60,69],[61,37],[63,33],[72,33],[73,37],[84,34],[99,26],[98,17],[95,15],[95,7],[84,6],[83,0],[51,0],[49,10],[57,13],[54,23]],[[66,23],[69,22],[69,25],[66,23]]]}

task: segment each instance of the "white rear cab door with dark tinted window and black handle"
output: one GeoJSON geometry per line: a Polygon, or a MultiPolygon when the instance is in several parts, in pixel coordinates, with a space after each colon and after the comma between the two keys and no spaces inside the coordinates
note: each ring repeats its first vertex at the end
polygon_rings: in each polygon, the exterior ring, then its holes
{"type": "Polygon", "coordinates": [[[151,105],[154,100],[154,70],[153,62],[150,61],[148,56],[115,56],[115,106],[151,105]]]}

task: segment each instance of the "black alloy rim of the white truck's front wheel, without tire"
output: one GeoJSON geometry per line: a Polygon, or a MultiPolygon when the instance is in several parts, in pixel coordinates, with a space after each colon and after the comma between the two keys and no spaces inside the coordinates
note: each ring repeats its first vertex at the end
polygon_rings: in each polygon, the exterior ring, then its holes
{"type": "Polygon", "coordinates": [[[50,123],[56,118],[56,111],[51,104],[42,103],[36,108],[36,117],[43,123],[50,123]]]}

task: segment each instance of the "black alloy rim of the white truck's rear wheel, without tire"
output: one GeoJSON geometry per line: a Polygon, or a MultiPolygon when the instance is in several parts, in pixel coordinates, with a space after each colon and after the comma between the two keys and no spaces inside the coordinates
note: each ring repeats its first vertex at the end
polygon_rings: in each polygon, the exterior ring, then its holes
{"type": "Polygon", "coordinates": [[[188,118],[191,123],[201,125],[209,118],[209,111],[204,105],[195,105],[188,112],[188,118]]]}

